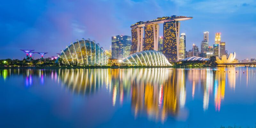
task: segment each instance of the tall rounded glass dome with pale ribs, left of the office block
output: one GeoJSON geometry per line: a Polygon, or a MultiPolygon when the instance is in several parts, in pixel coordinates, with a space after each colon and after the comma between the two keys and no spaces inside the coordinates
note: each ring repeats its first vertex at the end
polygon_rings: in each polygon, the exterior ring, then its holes
{"type": "Polygon", "coordinates": [[[60,58],[69,65],[75,63],[80,65],[107,65],[108,62],[108,57],[103,48],[90,39],[77,40],[61,51],[60,58]]]}

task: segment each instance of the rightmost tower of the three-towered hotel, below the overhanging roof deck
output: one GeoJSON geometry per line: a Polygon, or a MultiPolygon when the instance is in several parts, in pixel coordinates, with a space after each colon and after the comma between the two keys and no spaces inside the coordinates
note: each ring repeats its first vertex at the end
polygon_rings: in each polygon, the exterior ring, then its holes
{"type": "Polygon", "coordinates": [[[164,48],[163,53],[168,61],[179,61],[179,35],[180,22],[164,22],[164,48]]]}

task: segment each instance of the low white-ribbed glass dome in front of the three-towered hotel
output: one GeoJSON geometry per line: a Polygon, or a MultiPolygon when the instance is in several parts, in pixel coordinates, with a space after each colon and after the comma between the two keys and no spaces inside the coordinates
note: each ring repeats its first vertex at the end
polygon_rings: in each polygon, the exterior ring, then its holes
{"type": "Polygon", "coordinates": [[[133,66],[172,66],[162,52],[154,50],[133,53],[123,62],[133,66]]]}

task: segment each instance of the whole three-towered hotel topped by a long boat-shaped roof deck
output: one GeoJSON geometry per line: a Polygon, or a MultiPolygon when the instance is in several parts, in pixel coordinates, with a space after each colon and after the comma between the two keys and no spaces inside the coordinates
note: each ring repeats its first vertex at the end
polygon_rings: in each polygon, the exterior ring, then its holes
{"type": "Polygon", "coordinates": [[[164,24],[163,54],[169,62],[179,61],[180,22],[193,17],[171,16],[156,20],[140,21],[131,26],[132,47],[131,54],[140,51],[158,51],[159,24],[164,24]],[[143,45],[143,32],[144,45],[143,45]]]}

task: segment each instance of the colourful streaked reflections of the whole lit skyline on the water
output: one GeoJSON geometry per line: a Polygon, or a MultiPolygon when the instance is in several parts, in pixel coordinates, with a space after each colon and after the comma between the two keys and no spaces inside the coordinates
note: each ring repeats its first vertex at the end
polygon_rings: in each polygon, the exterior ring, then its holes
{"type": "MultiPolygon", "coordinates": [[[[4,81],[13,75],[22,75],[25,87],[34,86],[34,79],[44,85],[45,79],[61,83],[62,87],[78,95],[97,94],[106,90],[112,98],[112,106],[131,104],[134,118],[147,116],[149,120],[164,123],[168,117],[184,118],[181,114],[186,100],[202,98],[202,110],[207,111],[214,100],[215,111],[220,111],[226,87],[235,91],[236,79],[246,75],[246,85],[255,74],[252,68],[174,69],[58,69],[0,70],[4,81]],[[228,85],[228,86],[227,86],[228,85]],[[202,95],[200,95],[202,94],[202,95]]],[[[241,80],[240,80],[241,81],[241,80]]],[[[184,116],[185,115],[185,116],[184,116]]]]}

